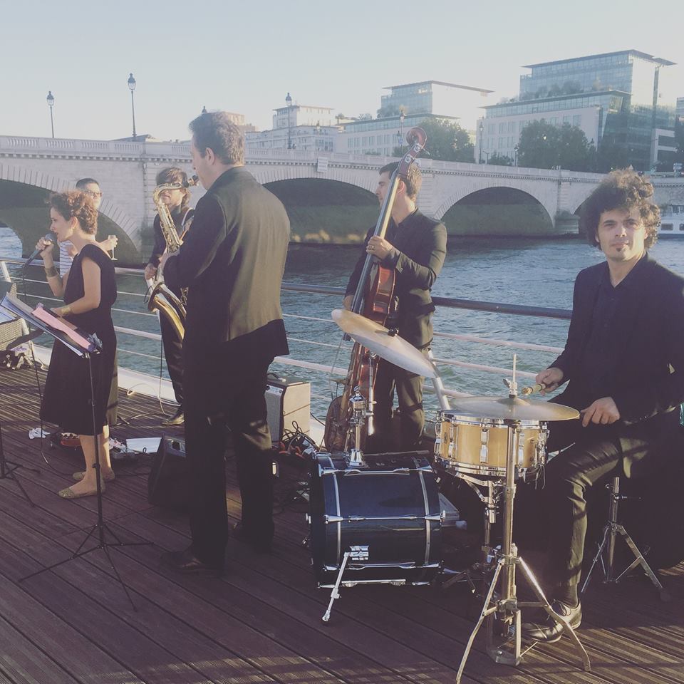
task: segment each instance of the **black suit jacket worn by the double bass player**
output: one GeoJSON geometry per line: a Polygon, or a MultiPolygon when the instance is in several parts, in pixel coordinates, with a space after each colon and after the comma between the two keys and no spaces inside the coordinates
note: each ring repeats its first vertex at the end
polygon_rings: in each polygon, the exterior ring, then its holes
{"type": "MultiPolygon", "coordinates": [[[[366,244],[347,284],[346,294],[356,291],[366,261],[366,244]]],[[[396,270],[394,294],[398,298],[397,328],[399,335],[413,346],[427,347],[432,342],[432,303],[430,289],[442,270],[447,254],[447,229],[416,209],[399,226],[390,221],[385,238],[395,249],[383,259],[383,266],[396,270]]]]}

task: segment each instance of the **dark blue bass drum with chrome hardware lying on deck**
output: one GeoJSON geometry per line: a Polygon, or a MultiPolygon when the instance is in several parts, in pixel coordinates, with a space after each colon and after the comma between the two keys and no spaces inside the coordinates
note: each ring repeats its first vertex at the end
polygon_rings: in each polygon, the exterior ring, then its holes
{"type": "Polygon", "coordinates": [[[346,551],[359,547],[342,581],[428,584],[441,569],[442,517],[435,474],[424,458],[319,454],[311,472],[311,556],[318,586],[333,586],[346,551]]]}

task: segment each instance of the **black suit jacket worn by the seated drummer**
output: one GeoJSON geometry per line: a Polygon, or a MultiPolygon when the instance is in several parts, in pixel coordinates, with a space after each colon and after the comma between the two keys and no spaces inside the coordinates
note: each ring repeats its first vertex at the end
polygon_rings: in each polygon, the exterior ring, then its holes
{"type": "MultiPolygon", "coordinates": [[[[615,425],[620,437],[660,440],[678,425],[684,402],[684,279],[646,254],[629,306],[618,331],[615,373],[602,396],[612,397],[620,412],[615,425]]],[[[598,288],[608,264],[580,271],[575,281],[568,340],[561,356],[551,363],[563,371],[568,386],[556,398],[577,409],[600,397],[586,394],[579,376],[581,358],[591,331],[598,288]]],[[[608,426],[611,427],[611,426],[608,426]]]]}

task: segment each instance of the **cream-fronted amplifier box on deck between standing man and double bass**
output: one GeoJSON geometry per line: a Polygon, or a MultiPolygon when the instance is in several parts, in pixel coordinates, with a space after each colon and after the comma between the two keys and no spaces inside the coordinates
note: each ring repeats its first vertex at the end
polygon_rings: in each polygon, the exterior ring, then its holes
{"type": "Polygon", "coordinates": [[[266,378],[266,410],[271,440],[279,442],[285,431],[309,435],[311,430],[311,383],[292,376],[266,378]]]}

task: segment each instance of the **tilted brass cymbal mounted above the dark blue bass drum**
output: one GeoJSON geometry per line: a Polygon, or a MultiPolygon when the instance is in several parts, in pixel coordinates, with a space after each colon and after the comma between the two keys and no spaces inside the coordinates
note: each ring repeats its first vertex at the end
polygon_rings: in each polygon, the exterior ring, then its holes
{"type": "Polygon", "coordinates": [[[413,344],[398,335],[390,335],[390,331],[379,323],[344,309],[335,309],[332,316],[348,336],[385,361],[425,378],[437,376],[435,366],[413,344]]]}

